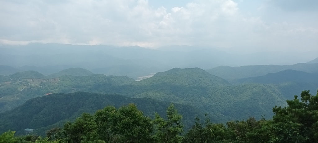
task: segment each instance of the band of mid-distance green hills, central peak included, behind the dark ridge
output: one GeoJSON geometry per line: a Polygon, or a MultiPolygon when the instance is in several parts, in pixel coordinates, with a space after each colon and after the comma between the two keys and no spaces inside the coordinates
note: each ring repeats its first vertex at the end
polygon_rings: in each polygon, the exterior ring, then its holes
{"type": "Polygon", "coordinates": [[[275,85],[233,86],[226,80],[199,69],[173,68],[151,78],[135,81],[128,77],[90,75],[61,76],[53,79],[24,79],[1,83],[1,112],[21,105],[28,99],[50,93],[97,92],[128,97],[148,97],[160,101],[190,103],[211,113],[213,122],[272,116],[268,108],[284,105],[285,98],[275,85]]]}

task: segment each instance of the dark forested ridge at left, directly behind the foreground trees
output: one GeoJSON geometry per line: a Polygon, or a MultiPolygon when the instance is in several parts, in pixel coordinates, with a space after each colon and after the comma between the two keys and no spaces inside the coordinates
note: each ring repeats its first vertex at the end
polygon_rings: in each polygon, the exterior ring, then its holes
{"type": "MultiPolygon", "coordinates": [[[[14,110],[0,113],[0,133],[7,130],[24,134],[25,128],[36,129],[35,133],[44,135],[47,130],[61,126],[66,121],[73,121],[83,112],[93,113],[105,106],[120,107],[134,103],[145,115],[154,118],[155,112],[165,116],[166,108],[170,102],[157,101],[150,98],[128,98],[115,94],[97,94],[88,92],[75,92],[67,94],[50,94],[30,99],[14,110]]],[[[204,117],[203,113],[193,106],[175,104],[176,109],[183,116],[183,123],[190,127],[194,118],[204,117]]]]}

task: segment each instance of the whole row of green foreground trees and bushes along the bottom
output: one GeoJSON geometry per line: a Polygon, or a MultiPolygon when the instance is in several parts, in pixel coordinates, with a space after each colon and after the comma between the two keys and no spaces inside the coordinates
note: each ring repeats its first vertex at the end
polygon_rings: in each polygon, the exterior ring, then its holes
{"type": "Polygon", "coordinates": [[[116,109],[107,106],[94,115],[84,113],[63,128],[53,128],[46,138],[35,141],[14,137],[14,132],[0,136],[0,143],[316,143],[318,142],[318,90],[316,95],[301,92],[301,99],[287,100],[288,106],[273,108],[270,120],[249,118],[214,124],[206,116],[204,123],[196,118],[185,134],[182,116],[173,105],[163,119],[143,115],[134,104],[116,109]]]}

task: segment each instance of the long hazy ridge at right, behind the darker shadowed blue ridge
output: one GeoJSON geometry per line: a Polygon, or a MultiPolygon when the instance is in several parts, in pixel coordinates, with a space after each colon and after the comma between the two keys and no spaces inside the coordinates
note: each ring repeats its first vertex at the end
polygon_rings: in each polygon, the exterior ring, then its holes
{"type": "Polygon", "coordinates": [[[298,63],[295,65],[247,65],[239,67],[218,66],[205,71],[231,81],[233,79],[264,76],[268,73],[275,73],[284,70],[305,71],[308,73],[318,72],[318,63],[298,63]]]}

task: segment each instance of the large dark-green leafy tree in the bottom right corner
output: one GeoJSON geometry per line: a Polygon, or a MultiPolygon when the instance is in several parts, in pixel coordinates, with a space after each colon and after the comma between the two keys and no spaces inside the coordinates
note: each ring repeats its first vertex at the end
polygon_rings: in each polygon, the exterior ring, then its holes
{"type": "Polygon", "coordinates": [[[301,92],[301,100],[287,100],[287,107],[273,108],[270,142],[318,142],[318,90],[315,96],[301,92]]]}

